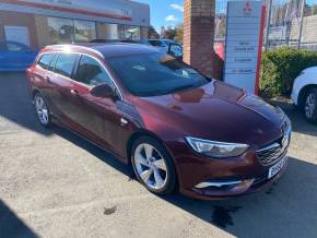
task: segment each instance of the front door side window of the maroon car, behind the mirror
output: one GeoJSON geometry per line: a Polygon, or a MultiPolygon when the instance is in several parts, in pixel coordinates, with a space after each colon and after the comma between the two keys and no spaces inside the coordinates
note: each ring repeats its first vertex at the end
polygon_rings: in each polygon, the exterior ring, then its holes
{"type": "Polygon", "coordinates": [[[89,56],[81,57],[75,80],[89,86],[108,84],[115,88],[108,72],[97,60],[89,56]]]}

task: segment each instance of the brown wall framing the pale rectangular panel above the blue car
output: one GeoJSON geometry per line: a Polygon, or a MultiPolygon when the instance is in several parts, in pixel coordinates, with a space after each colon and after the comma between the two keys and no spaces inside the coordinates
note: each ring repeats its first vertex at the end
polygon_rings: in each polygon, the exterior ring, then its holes
{"type": "Polygon", "coordinates": [[[27,13],[0,11],[0,40],[5,39],[4,26],[25,26],[28,28],[30,44],[33,47],[38,46],[35,15],[27,13]]]}

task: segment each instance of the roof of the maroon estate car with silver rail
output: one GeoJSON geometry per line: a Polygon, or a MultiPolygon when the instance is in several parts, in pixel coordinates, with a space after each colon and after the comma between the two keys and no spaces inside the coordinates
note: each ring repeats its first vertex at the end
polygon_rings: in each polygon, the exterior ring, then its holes
{"type": "Polygon", "coordinates": [[[155,47],[139,45],[139,44],[129,44],[129,43],[87,43],[87,44],[75,44],[75,45],[54,45],[47,46],[47,50],[68,50],[68,51],[92,51],[102,56],[103,58],[111,57],[122,57],[122,56],[133,56],[133,55],[143,55],[143,53],[154,53],[161,52],[155,47]]]}

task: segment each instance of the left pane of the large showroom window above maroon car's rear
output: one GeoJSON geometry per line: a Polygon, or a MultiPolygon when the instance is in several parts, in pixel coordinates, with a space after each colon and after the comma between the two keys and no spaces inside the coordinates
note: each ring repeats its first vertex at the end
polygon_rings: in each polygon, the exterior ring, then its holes
{"type": "Polygon", "coordinates": [[[73,43],[73,21],[69,19],[48,17],[48,32],[52,44],[73,43]]]}

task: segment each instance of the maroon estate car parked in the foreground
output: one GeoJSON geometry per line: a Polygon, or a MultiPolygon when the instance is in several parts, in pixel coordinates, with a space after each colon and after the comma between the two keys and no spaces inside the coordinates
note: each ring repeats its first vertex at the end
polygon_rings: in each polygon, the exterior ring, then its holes
{"type": "Polygon", "coordinates": [[[287,165],[291,122],[279,107],[149,46],[48,46],[27,81],[43,126],[63,126],[132,164],[156,194],[251,193],[287,165]]]}

